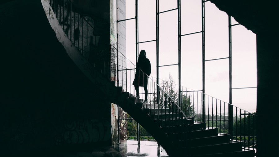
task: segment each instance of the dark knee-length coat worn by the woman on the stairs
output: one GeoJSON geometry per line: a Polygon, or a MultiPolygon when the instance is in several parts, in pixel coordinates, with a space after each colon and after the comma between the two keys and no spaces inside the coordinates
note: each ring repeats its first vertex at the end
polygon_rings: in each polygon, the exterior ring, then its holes
{"type": "Polygon", "coordinates": [[[151,73],[151,65],[150,61],[144,57],[138,60],[136,65],[136,73],[135,73],[135,79],[133,82],[134,86],[147,87],[148,83],[148,76],[150,76],[151,73]]]}

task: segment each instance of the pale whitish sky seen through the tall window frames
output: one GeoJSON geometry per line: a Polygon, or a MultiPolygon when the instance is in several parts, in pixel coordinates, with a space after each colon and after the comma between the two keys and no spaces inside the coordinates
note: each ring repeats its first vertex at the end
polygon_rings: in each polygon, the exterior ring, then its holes
{"type": "MultiPolygon", "coordinates": [[[[156,39],[155,0],[139,1],[139,42],[156,39]]],[[[177,7],[176,1],[160,0],[159,11],[177,7]]],[[[135,1],[126,0],[126,19],[135,17],[135,1]]],[[[122,20],[122,19],[119,19],[122,20]]],[[[232,24],[238,22],[232,18],[232,24]]],[[[159,14],[160,65],[178,63],[177,10],[159,14]]],[[[201,31],[201,1],[181,1],[181,34],[201,31]]],[[[211,2],[205,3],[206,60],[228,57],[228,16],[211,2]]],[[[140,43],[156,77],[156,42],[140,43]]],[[[202,89],[201,33],[181,37],[182,86],[202,89]]],[[[126,21],[126,57],[135,64],[135,20],[126,21]]],[[[229,100],[228,59],[206,61],[206,94],[229,100]]],[[[160,68],[160,78],[169,73],[178,84],[178,65],[160,68]]],[[[256,87],[256,35],[242,25],[232,27],[232,88],[256,87]]],[[[256,88],[234,89],[232,105],[256,111],[256,88]]]]}

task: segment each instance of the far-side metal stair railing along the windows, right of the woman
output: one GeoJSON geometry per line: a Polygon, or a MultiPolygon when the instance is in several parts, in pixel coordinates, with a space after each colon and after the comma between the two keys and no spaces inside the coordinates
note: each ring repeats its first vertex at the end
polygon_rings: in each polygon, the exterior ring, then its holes
{"type": "MultiPolygon", "coordinates": [[[[178,99],[179,85],[169,80],[160,82],[166,91],[170,91],[169,95],[173,99],[178,99]]],[[[242,141],[244,149],[255,149],[257,119],[255,113],[190,88],[181,87],[181,90],[181,109],[187,117],[195,117],[195,122],[201,123],[204,116],[207,128],[219,128],[219,134],[230,134],[231,140],[242,141]]]]}

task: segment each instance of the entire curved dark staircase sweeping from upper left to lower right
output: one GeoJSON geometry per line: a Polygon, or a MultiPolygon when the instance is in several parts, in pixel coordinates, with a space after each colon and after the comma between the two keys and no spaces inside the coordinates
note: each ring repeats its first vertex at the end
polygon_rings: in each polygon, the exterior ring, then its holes
{"type": "MultiPolygon", "coordinates": [[[[49,11],[49,15],[54,14],[48,2],[42,1],[42,3],[44,4],[45,11],[49,11]]],[[[51,18],[48,19],[50,23],[53,23],[53,28],[57,30],[62,29],[58,28],[58,21],[51,21],[51,18]]],[[[59,39],[70,42],[69,39],[59,39]]],[[[69,48],[68,45],[64,44],[64,47],[81,71],[96,87],[100,88],[105,97],[108,97],[112,103],[119,105],[152,134],[169,156],[254,156],[254,150],[243,149],[243,143],[230,140],[230,135],[228,134],[220,135],[218,128],[206,128],[206,123],[195,122],[194,117],[186,117],[170,96],[167,96],[170,101],[164,101],[164,103],[162,101],[161,103],[154,101],[154,103],[143,104],[141,99],[132,97],[129,92],[123,92],[122,87],[115,87],[115,82],[106,79],[99,73],[100,70],[95,69],[95,67],[91,66],[90,70],[84,69],[83,65],[90,63],[86,59],[81,58],[84,56],[77,54],[80,52],[72,47],[69,48]]],[[[160,91],[164,91],[159,85],[155,86],[160,91]]]]}

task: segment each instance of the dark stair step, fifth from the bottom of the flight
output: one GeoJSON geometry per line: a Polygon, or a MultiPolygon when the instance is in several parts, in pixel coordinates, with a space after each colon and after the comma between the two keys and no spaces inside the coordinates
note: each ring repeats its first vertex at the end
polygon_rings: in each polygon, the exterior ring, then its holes
{"type": "MultiPolygon", "coordinates": [[[[191,124],[191,131],[203,130],[206,128],[205,126],[206,126],[206,123],[193,123],[193,124],[191,124]]],[[[190,131],[189,125],[163,126],[162,128],[165,129],[166,132],[169,132],[169,133],[185,132],[186,130],[190,131]]]]}

